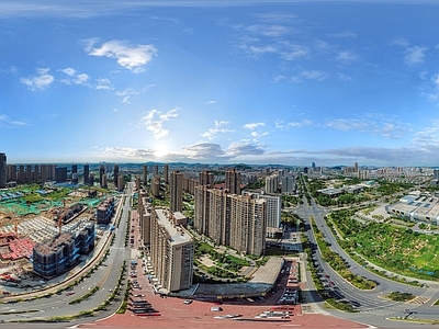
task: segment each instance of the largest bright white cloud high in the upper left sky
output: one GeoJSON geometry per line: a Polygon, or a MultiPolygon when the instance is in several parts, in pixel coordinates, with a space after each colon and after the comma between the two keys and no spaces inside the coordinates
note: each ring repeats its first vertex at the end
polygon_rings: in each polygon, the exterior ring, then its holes
{"type": "Polygon", "coordinates": [[[113,39],[94,47],[97,42],[95,38],[87,41],[85,50],[89,55],[115,58],[120,66],[135,73],[143,72],[145,65],[153,59],[153,56],[157,55],[157,48],[151,44],[132,46],[124,41],[113,39]]]}

